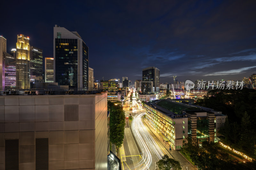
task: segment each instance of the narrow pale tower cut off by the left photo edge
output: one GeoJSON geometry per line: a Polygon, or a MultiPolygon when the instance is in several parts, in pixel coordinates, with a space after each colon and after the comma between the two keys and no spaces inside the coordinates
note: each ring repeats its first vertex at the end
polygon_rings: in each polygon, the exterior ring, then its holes
{"type": "Polygon", "coordinates": [[[6,53],[6,39],[0,36],[0,88],[4,88],[4,52],[6,53]]]}

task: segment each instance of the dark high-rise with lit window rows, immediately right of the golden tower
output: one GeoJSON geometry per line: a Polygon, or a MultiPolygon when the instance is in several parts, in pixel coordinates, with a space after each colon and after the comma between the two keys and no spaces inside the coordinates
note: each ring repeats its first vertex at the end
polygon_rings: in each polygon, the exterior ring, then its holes
{"type": "MultiPolygon", "coordinates": [[[[43,50],[34,46],[30,47],[30,80],[32,82],[44,82],[43,80],[43,50]]],[[[34,87],[35,88],[35,85],[34,87]]]]}

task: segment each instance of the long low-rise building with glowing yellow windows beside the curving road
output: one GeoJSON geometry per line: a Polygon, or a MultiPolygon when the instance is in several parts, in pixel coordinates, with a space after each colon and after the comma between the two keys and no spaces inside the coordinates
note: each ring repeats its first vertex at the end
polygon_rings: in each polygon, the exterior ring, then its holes
{"type": "Polygon", "coordinates": [[[211,108],[193,105],[190,100],[155,100],[145,104],[148,122],[175,150],[179,150],[186,137],[217,142],[218,130],[226,115],[211,108]],[[186,103],[186,104],[185,104],[186,103]]]}

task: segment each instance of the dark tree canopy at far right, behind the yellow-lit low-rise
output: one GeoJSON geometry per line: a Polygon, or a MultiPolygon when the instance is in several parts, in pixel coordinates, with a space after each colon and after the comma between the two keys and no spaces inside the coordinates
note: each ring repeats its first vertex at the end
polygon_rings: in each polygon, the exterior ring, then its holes
{"type": "Polygon", "coordinates": [[[256,159],[256,90],[211,90],[195,103],[228,116],[219,133],[221,140],[256,159]]]}

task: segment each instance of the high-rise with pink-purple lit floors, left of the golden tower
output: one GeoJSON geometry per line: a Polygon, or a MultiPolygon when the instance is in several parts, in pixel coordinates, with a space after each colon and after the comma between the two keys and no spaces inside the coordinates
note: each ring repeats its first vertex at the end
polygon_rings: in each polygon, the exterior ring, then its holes
{"type": "Polygon", "coordinates": [[[4,52],[4,87],[16,87],[16,58],[4,52]]]}

